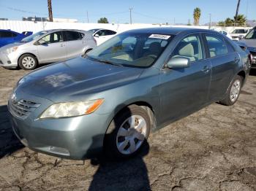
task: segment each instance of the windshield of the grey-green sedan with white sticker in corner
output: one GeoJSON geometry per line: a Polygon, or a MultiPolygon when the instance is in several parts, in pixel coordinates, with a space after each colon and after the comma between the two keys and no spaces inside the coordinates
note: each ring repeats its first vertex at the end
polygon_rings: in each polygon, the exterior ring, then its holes
{"type": "Polygon", "coordinates": [[[131,67],[151,66],[173,39],[170,34],[119,34],[91,50],[86,58],[131,67]]]}

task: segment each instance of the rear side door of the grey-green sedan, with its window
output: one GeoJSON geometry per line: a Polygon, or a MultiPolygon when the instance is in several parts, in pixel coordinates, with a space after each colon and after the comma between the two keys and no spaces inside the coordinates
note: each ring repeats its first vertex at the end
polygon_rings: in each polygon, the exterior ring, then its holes
{"type": "Polygon", "coordinates": [[[206,52],[211,61],[210,101],[219,101],[225,95],[240,57],[232,45],[218,34],[205,34],[206,52]]]}

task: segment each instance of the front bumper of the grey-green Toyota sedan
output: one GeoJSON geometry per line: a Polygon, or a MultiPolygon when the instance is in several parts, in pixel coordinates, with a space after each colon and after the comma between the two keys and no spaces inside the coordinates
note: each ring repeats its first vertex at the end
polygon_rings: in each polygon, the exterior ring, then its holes
{"type": "MultiPolygon", "coordinates": [[[[50,101],[46,102],[49,106],[50,101]]],[[[20,119],[13,114],[10,104],[11,100],[8,108],[12,129],[26,147],[72,160],[95,157],[102,152],[109,114],[39,120],[38,114],[46,108],[41,105],[26,119],[20,119]]]]}

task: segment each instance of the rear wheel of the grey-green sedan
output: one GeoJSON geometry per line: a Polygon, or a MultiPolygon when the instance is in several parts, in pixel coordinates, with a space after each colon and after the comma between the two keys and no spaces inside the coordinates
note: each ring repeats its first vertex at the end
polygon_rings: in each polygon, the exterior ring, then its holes
{"type": "Polygon", "coordinates": [[[235,104],[241,92],[241,83],[242,79],[237,75],[231,82],[230,87],[228,87],[225,98],[222,101],[219,101],[219,103],[225,106],[232,106],[235,104]]]}

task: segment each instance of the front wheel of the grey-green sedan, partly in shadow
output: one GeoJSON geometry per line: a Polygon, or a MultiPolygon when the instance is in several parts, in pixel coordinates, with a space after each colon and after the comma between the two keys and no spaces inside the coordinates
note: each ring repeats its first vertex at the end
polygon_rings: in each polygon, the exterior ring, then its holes
{"type": "Polygon", "coordinates": [[[105,134],[105,155],[109,159],[136,155],[146,144],[151,126],[148,112],[143,107],[131,105],[123,109],[110,122],[105,134]],[[131,127],[130,120],[135,122],[134,128],[131,127]]]}

